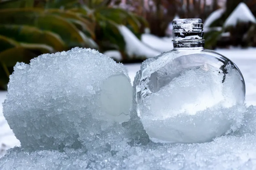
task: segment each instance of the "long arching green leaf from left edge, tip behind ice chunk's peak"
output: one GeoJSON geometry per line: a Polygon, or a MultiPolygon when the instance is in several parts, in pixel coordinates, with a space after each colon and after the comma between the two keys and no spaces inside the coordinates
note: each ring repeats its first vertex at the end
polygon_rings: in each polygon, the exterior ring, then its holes
{"type": "Polygon", "coordinates": [[[79,30],[65,18],[38,9],[0,10],[0,24],[30,25],[54,32],[69,46],[84,46],[79,30]]]}

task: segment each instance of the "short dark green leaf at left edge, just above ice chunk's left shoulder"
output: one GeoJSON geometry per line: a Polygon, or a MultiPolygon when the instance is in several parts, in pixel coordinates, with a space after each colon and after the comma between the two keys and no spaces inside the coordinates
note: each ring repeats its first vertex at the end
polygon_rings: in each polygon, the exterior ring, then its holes
{"type": "Polygon", "coordinates": [[[0,52],[0,62],[13,67],[17,62],[29,63],[37,55],[24,47],[13,47],[0,52]]]}

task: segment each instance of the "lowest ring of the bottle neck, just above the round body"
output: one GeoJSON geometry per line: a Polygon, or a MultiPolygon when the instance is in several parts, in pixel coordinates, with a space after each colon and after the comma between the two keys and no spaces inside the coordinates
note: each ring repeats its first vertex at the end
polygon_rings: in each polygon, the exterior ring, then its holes
{"type": "Polygon", "coordinates": [[[173,40],[174,49],[201,49],[204,48],[204,40],[173,40]]]}

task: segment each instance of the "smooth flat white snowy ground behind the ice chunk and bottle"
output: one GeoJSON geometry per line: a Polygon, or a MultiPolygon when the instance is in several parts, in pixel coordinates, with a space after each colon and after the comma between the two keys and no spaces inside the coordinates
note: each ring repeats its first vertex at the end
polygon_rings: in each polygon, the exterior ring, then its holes
{"type": "MultiPolygon", "coordinates": [[[[219,49],[217,52],[227,56],[240,68],[246,83],[246,104],[256,106],[256,48],[249,49],[219,49]]],[[[140,64],[127,64],[129,76],[133,82],[136,72],[140,69],[140,64]]],[[[5,148],[19,146],[20,142],[16,139],[12,130],[9,128],[2,113],[2,102],[7,92],[0,92],[0,156],[1,145],[5,148]]]]}

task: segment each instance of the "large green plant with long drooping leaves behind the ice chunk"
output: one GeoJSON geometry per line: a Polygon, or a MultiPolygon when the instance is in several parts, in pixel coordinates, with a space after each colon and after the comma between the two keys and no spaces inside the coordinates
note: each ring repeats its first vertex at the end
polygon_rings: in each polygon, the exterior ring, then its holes
{"type": "Polygon", "coordinates": [[[6,89],[16,62],[74,46],[118,49],[118,25],[140,31],[146,21],[110,5],[110,0],[0,0],[0,88],[6,89]]]}

